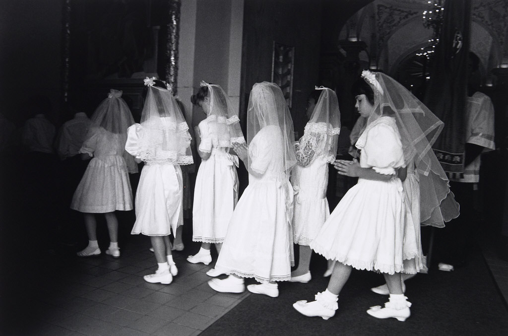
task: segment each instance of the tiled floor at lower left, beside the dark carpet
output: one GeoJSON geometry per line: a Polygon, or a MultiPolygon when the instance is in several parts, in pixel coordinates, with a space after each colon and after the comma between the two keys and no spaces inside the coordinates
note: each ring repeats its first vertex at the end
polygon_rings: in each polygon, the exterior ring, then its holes
{"type": "Polygon", "coordinates": [[[119,259],[48,262],[33,334],[197,335],[248,295],[215,292],[206,284],[211,265],[190,264],[182,252],[174,252],[179,273],[170,285],[147,283],[142,276],[156,269],[149,239],[134,240],[119,259]]]}

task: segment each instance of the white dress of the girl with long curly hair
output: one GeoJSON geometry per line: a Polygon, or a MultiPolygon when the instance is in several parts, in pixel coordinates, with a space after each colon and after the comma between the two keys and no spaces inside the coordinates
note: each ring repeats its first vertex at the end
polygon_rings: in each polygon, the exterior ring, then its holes
{"type": "Polygon", "coordinates": [[[295,193],[293,240],[298,245],[308,246],[330,216],[326,199],[330,158],[315,152],[321,141],[326,141],[326,134],[303,135],[296,150],[298,164],[291,172],[295,193]]]}

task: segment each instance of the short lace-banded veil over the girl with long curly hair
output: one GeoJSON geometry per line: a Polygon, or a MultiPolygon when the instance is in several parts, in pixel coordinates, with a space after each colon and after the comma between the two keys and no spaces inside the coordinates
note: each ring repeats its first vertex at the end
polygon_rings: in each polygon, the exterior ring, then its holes
{"type": "Polygon", "coordinates": [[[324,155],[329,162],[337,155],[337,141],[340,133],[340,111],[337,95],[327,87],[315,87],[322,90],[314,106],[310,120],[305,125],[304,137],[316,140],[315,154],[324,155]]]}

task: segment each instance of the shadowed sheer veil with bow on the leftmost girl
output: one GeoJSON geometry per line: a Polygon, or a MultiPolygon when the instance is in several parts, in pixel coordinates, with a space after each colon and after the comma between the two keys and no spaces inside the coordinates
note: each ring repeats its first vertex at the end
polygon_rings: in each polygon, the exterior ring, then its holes
{"type": "MultiPolygon", "coordinates": [[[[111,141],[116,141],[118,148],[124,148],[127,141],[127,129],[134,124],[129,106],[121,98],[122,91],[110,89],[108,98],[103,100],[91,116],[91,127],[88,131],[87,138],[91,133],[97,132],[98,128],[108,132],[111,141]]],[[[138,172],[138,165],[134,158],[125,150],[123,151],[123,159],[130,173],[138,172]]]]}

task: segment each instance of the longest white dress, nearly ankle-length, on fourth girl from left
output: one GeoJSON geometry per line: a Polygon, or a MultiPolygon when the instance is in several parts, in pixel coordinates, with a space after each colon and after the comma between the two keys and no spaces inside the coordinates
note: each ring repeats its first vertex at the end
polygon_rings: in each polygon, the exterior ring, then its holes
{"type": "Polygon", "coordinates": [[[282,135],[266,126],[249,144],[249,185],[233,212],[215,269],[259,282],[291,279],[292,187],[284,174],[282,135]]]}

